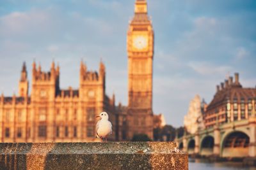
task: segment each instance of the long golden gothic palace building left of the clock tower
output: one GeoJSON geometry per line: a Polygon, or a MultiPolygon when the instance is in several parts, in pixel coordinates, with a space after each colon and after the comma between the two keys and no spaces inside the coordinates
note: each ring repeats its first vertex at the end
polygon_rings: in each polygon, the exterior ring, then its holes
{"type": "Polygon", "coordinates": [[[26,65],[21,71],[19,96],[0,99],[1,142],[95,141],[95,115],[109,113],[115,139],[115,97],[105,94],[105,66],[99,72],[81,62],[79,89],[60,89],[60,67],[49,72],[33,63],[31,96],[26,65]]]}

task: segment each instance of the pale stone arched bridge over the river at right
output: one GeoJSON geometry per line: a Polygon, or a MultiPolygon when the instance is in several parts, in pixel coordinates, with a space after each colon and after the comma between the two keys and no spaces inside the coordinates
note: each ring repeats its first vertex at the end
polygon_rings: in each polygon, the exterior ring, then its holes
{"type": "Polygon", "coordinates": [[[256,117],[218,124],[175,139],[189,155],[256,157],[256,117]]]}

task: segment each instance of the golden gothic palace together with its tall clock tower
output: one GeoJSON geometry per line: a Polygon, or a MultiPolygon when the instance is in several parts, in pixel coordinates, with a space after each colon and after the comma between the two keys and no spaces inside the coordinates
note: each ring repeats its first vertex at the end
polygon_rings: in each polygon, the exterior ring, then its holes
{"type": "Polygon", "coordinates": [[[88,71],[81,62],[79,89],[60,89],[60,67],[52,62],[42,71],[33,62],[31,94],[23,64],[19,96],[0,97],[1,142],[96,141],[95,115],[109,113],[111,140],[129,140],[134,134],[153,138],[152,73],[154,31],[147,14],[147,1],[136,0],[134,18],[127,32],[128,106],[115,106],[115,95],[106,95],[106,71],[88,71]]]}

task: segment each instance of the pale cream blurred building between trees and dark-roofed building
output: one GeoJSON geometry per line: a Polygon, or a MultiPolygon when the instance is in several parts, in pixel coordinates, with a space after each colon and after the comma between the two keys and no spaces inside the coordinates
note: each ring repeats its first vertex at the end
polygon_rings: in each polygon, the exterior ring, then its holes
{"type": "Polygon", "coordinates": [[[184,117],[184,126],[190,134],[195,134],[196,131],[205,128],[202,115],[202,111],[204,111],[202,105],[204,104],[201,103],[199,95],[196,95],[189,103],[188,114],[184,117]]]}

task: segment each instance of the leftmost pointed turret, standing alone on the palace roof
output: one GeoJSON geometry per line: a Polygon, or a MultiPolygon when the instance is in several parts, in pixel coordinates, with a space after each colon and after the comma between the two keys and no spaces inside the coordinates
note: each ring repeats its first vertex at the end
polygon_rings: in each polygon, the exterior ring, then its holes
{"type": "Polygon", "coordinates": [[[21,73],[20,73],[19,96],[20,97],[28,96],[28,72],[26,68],[26,62],[23,62],[21,73]]]}

